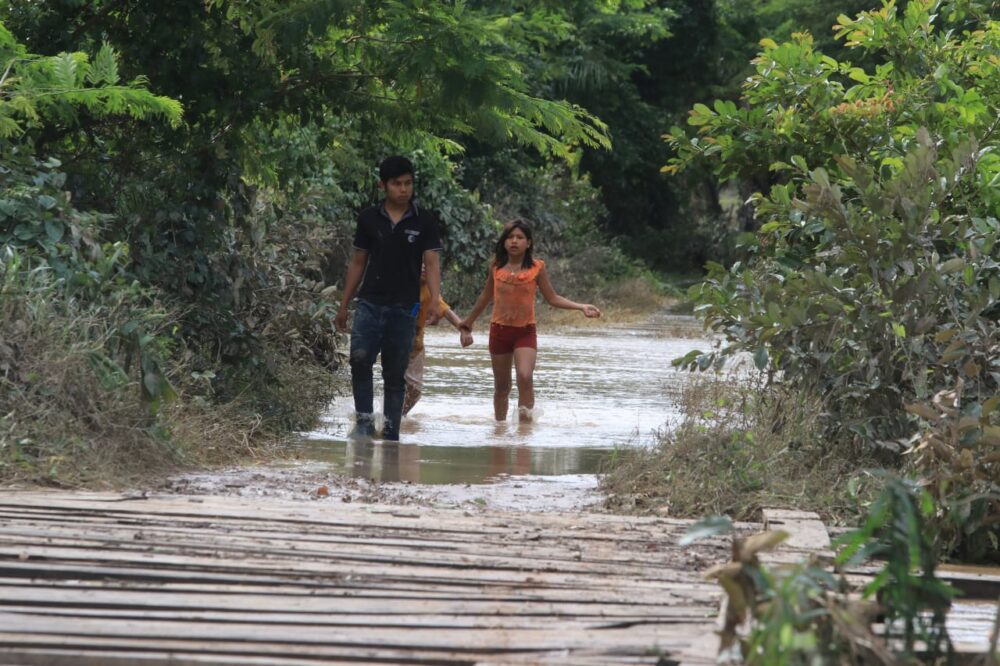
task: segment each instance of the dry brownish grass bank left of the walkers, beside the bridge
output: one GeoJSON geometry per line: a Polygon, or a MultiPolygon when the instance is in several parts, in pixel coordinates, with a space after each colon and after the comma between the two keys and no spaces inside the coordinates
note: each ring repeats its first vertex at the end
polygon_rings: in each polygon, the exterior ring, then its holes
{"type": "Polygon", "coordinates": [[[327,371],[279,358],[264,395],[218,404],[175,360],[178,399],[154,414],[140,400],[134,367],[111,383],[95,371],[129,308],[0,296],[0,483],[124,487],[269,457],[287,441],[289,423],[308,426],[332,397],[327,371]]]}

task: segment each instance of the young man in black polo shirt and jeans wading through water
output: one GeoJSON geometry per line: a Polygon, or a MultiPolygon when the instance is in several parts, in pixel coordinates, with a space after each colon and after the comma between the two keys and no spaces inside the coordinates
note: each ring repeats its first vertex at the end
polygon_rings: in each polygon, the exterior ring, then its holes
{"type": "Polygon", "coordinates": [[[394,155],[379,165],[379,188],[385,199],[361,211],[354,234],[354,254],[344,278],[337,330],[347,330],[348,304],[358,292],[351,328],[351,389],[355,426],[351,436],[375,435],[372,367],[382,355],[384,386],[382,439],[399,440],[405,394],[404,373],[413,345],[420,307],[420,271],[426,268],[427,323],[440,318],[441,265],[437,218],[413,202],[413,164],[394,155]],[[362,281],[363,278],[363,281],[362,281]],[[358,285],[361,285],[358,290],[358,285]]]}

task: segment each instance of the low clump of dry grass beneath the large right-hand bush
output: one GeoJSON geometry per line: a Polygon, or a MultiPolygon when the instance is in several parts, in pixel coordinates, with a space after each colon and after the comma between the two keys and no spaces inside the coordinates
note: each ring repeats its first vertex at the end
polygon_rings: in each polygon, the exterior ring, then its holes
{"type": "Polygon", "coordinates": [[[850,520],[848,479],[877,466],[827,448],[822,401],[753,380],[697,377],[681,396],[683,422],[652,449],[620,450],[602,477],[615,511],[759,520],[765,507],[850,520]]]}

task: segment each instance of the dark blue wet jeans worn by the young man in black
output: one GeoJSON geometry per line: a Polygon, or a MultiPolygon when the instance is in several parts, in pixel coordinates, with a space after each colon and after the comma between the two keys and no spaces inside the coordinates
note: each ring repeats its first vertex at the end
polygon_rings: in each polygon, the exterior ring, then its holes
{"type": "Polygon", "coordinates": [[[382,354],[383,439],[399,439],[399,422],[406,395],[404,375],[410,362],[417,317],[412,307],[376,305],[358,299],[351,328],[351,389],[354,409],[368,415],[374,410],[372,367],[382,354]]]}

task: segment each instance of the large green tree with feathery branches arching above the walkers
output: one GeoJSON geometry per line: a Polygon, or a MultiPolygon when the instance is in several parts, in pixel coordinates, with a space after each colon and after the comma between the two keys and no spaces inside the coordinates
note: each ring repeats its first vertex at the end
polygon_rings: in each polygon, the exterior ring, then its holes
{"type": "Polygon", "coordinates": [[[211,257],[234,225],[249,223],[256,187],[268,182],[255,176],[293,173],[294,161],[261,160],[287,151],[258,150],[290,122],[314,128],[321,155],[345,121],[383,143],[451,151],[469,136],[554,155],[607,145],[594,116],[532,94],[512,55],[528,49],[526,35],[560,29],[544,15],[375,0],[8,4],[36,48],[107,40],[184,100],[187,122],[174,130],[91,123],[36,137],[72,156],[78,199],[116,212],[112,233],[131,240],[143,279],[177,294],[210,298],[226,287],[211,257]]]}

